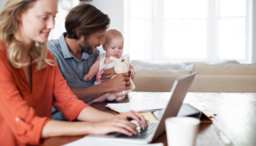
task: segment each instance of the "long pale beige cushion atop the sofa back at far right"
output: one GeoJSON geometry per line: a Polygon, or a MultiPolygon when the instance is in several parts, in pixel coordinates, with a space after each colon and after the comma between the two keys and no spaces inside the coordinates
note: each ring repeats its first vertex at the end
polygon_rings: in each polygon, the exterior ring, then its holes
{"type": "Polygon", "coordinates": [[[194,64],[192,72],[197,74],[215,75],[256,75],[256,63],[254,64],[194,64]]]}

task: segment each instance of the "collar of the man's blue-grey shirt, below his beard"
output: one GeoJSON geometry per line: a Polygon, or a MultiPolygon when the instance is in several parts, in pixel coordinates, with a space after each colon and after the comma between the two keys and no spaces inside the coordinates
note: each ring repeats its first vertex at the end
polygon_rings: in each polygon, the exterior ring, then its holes
{"type": "MultiPolygon", "coordinates": [[[[70,58],[70,57],[73,57],[74,59],[77,59],[75,56],[73,56],[73,54],[70,52],[70,50],[68,50],[68,45],[67,45],[67,42],[65,41],[65,36],[67,35],[67,33],[63,33],[62,35],[60,35],[60,38],[59,38],[59,42],[60,43],[60,48],[63,52],[63,56],[64,58],[70,58]]],[[[82,58],[81,60],[87,60],[87,58],[89,57],[90,55],[85,52],[85,51],[82,51],[82,58]]]]}

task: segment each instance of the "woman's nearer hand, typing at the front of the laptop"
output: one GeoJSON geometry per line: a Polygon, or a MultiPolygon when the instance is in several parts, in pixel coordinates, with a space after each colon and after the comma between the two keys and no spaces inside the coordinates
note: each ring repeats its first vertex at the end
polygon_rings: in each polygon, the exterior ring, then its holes
{"type": "Polygon", "coordinates": [[[113,118],[99,123],[92,123],[92,130],[90,134],[106,135],[108,133],[122,133],[124,135],[137,135],[136,124],[121,118],[113,118]]]}

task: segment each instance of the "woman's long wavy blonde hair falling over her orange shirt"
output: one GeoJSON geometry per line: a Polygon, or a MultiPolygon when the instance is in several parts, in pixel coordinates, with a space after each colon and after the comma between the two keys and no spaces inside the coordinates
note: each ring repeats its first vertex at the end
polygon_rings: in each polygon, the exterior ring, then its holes
{"type": "MultiPolygon", "coordinates": [[[[21,62],[21,44],[14,38],[14,34],[19,33],[16,16],[31,8],[36,1],[7,0],[4,10],[0,14],[0,42],[8,47],[7,57],[15,68],[25,67],[29,64],[21,62]]],[[[47,67],[47,64],[54,65],[53,60],[47,59],[47,53],[46,43],[33,42],[29,47],[28,54],[33,57],[32,63],[36,63],[36,70],[47,67]]]]}

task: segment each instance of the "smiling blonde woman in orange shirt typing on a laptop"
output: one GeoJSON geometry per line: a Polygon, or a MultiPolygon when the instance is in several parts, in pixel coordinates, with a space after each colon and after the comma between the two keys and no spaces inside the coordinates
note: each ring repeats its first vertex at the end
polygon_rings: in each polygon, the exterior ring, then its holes
{"type": "Polygon", "coordinates": [[[146,127],[139,113],[97,111],[66,84],[46,48],[57,5],[57,0],[8,0],[0,15],[1,145],[39,145],[41,138],[60,135],[137,134],[127,118],[146,127]],[[51,120],[52,106],[81,122],[51,120]]]}

